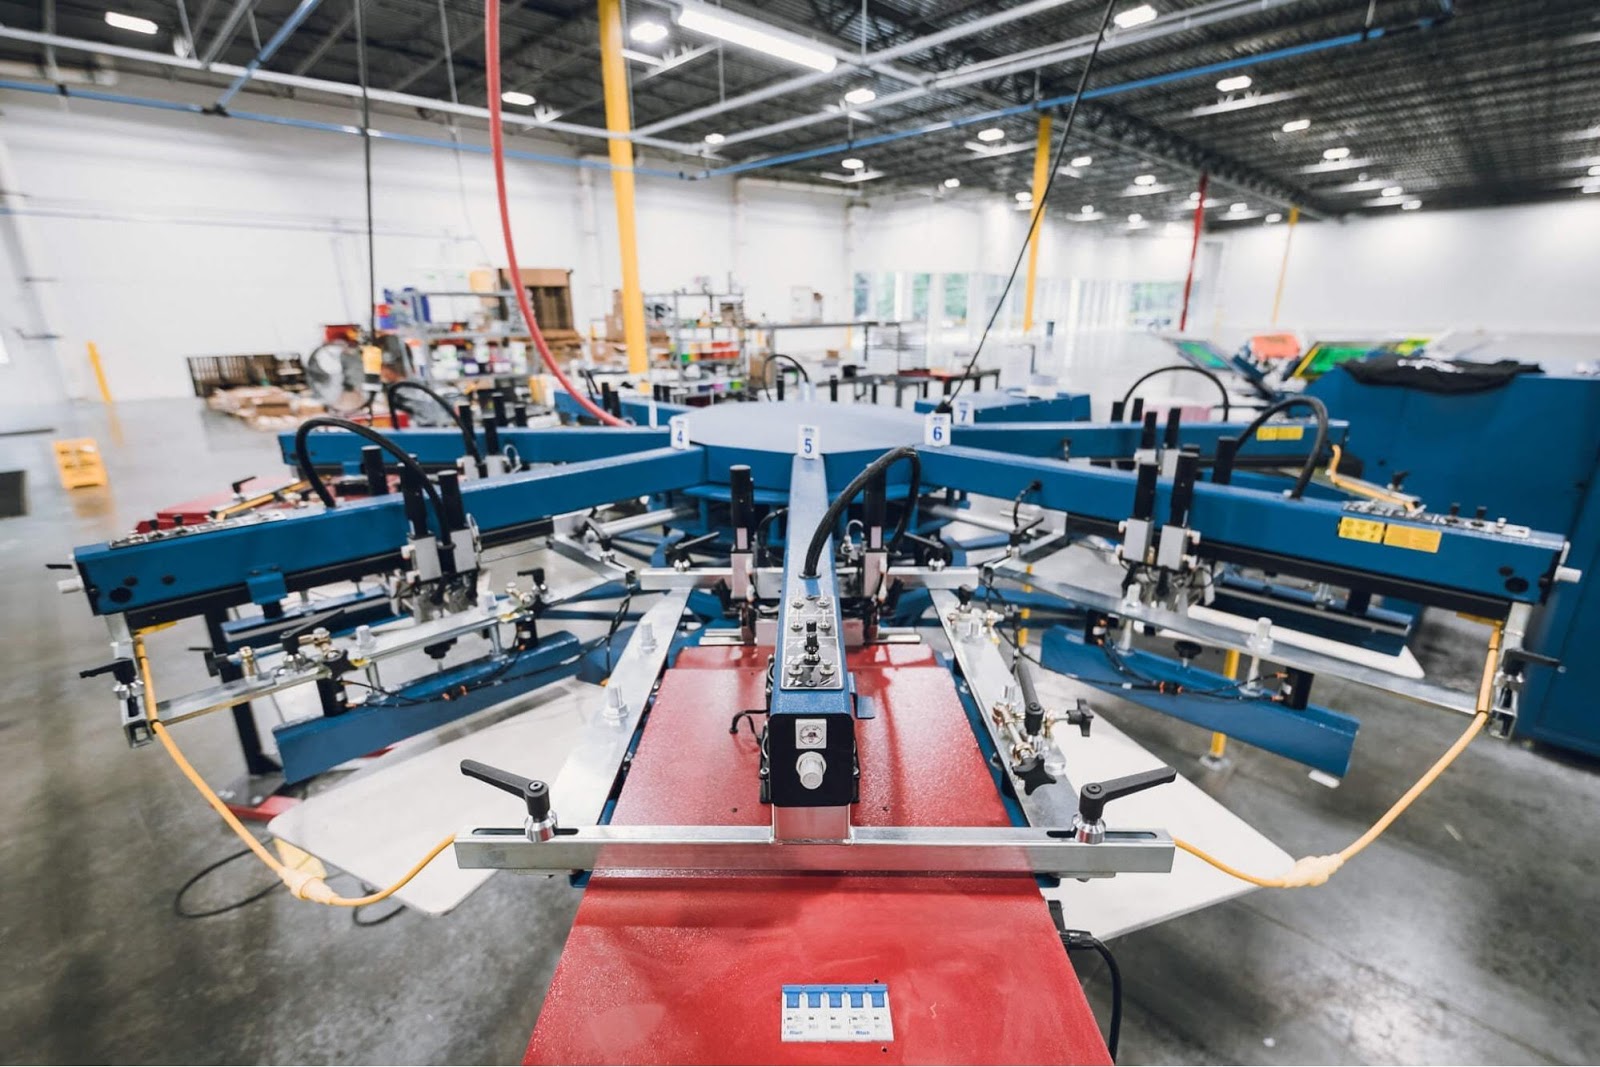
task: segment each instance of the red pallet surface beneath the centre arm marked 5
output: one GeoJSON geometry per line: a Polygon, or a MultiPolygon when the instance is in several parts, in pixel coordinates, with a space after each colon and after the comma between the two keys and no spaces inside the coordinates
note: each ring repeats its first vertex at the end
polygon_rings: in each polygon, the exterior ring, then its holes
{"type": "MultiPolygon", "coordinates": [[[[749,728],[770,649],[691,648],[669,670],[616,824],[766,824],[749,728]]],[[[1006,825],[946,669],[914,645],[850,657],[858,825],[1006,825]]],[[[760,720],[757,720],[757,725],[760,720]]],[[[560,805],[560,798],[552,798],[560,805]]],[[[1032,878],[597,877],[530,1064],[1109,1064],[1032,878]],[[886,982],[894,1040],[784,1043],[784,984],[886,982]]]]}

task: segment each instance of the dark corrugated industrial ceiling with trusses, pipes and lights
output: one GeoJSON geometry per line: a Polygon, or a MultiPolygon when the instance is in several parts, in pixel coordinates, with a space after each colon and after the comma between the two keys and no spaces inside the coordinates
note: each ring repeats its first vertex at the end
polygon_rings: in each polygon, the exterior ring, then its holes
{"type": "MultiPolygon", "coordinates": [[[[0,0],[6,77],[70,86],[112,69],[234,83],[227,106],[254,110],[270,96],[352,99],[350,0],[112,5],[155,32],[107,24],[99,3],[0,0]]],[[[525,94],[507,104],[514,147],[554,138],[603,152],[595,3],[502,6],[502,88],[525,94]]],[[[640,165],[872,197],[1021,198],[1037,114],[1056,114],[1059,133],[1102,11],[1099,0],[722,6],[814,43],[832,69],[696,32],[675,0],[632,0],[626,26],[659,27],[627,42],[640,165]]],[[[483,125],[478,3],[363,0],[362,16],[376,115],[483,125]]],[[[1222,226],[1277,221],[1290,205],[1342,216],[1584,195],[1600,190],[1600,3],[1117,0],[1064,158],[1053,214],[1117,227],[1192,213],[1200,171],[1222,226]]]]}

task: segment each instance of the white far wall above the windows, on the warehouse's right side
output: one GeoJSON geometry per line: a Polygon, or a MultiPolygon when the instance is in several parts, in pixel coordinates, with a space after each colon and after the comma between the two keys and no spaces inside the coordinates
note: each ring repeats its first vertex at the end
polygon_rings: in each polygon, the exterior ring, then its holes
{"type": "MultiPolygon", "coordinates": [[[[1027,213],[957,192],[858,213],[858,270],[1011,269],[1027,213]]],[[[1040,277],[1182,282],[1186,226],[1046,219],[1040,277]],[[1178,232],[1182,230],[1182,232],[1178,232]]],[[[1203,238],[1190,331],[1229,344],[1269,328],[1285,224],[1203,238]]],[[[1294,230],[1282,328],[1331,333],[1600,333],[1600,197],[1464,211],[1395,211],[1294,230]]]]}

